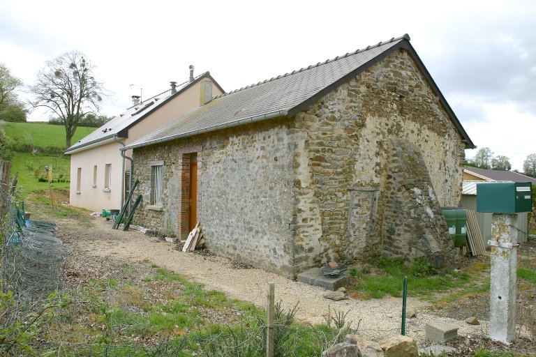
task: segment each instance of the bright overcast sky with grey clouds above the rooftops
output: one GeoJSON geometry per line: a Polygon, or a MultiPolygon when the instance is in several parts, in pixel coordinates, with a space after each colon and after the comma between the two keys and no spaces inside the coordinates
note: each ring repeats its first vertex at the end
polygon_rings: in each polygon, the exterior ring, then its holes
{"type": "Polygon", "coordinates": [[[521,170],[536,153],[535,19],[536,1],[514,0],[1,0],[0,63],[29,85],[45,61],[83,52],[114,116],[191,64],[232,91],[409,33],[472,141],[521,170]]]}

